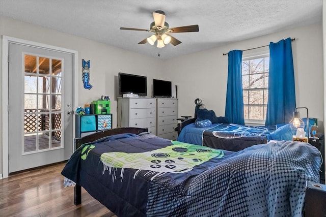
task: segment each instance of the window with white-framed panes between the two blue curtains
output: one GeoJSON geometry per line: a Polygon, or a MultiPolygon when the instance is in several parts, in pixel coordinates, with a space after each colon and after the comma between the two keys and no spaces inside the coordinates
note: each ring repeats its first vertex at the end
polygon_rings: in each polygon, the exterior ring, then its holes
{"type": "Polygon", "coordinates": [[[245,122],[263,122],[268,100],[269,54],[242,58],[245,122]]]}

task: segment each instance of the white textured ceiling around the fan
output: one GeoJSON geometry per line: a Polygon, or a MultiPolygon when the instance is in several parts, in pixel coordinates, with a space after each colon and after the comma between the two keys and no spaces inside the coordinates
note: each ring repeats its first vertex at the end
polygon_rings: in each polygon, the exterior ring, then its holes
{"type": "Polygon", "coordinates": [[[321,21],[322,0],[0,0],[0,15],[167,59],[321,21]],[[171,34],[182,43],[157,48],[138,44],[151,33],[119,29],[149,29],[156,10],[170,27],[198,24],[199,32],[171,34]]]}

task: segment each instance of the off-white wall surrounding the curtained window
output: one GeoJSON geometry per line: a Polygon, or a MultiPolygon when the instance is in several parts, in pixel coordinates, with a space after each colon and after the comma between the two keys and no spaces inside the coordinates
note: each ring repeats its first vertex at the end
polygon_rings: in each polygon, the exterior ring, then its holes
{"type": "MultiPolygon", "coordinates": [[[[289,37],[295,38],[292,53],[296,106],[308,107],[309,117],[318,118],[318,125],[323,131],[322,23],[166,60],[166,71],[174,72],[169,74],[169,78],[178,85],[178,114],[193,116],[194,101],[200,98],[207,109],[214,110],[218,116],[224,116],[228,56],[223,53],[260,47],[289,37]]],[[[255,52],[256,49],[244,51],[243,55],[255,52]]],[[[305,115],[303,110],[301,117],[305,115]]]]}

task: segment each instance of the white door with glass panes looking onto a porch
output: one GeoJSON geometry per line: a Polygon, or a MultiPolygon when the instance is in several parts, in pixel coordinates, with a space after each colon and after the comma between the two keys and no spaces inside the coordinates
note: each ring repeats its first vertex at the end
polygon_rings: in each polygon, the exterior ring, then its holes
{"type": "Polygon", "coordinates": [[[73,151],[73,55],[9,43],[9,173],[73,151]]]}

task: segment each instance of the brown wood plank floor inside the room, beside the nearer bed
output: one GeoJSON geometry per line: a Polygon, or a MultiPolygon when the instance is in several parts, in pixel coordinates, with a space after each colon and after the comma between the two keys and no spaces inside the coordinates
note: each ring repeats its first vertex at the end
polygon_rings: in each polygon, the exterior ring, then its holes
{"type": "Polygon", "coordinates": [[[114,216],[82,188],[82,204],[73,203],[73,187],[63,187],[65,163],[10,175],[0,180],[0,216],[114,216]]]}

